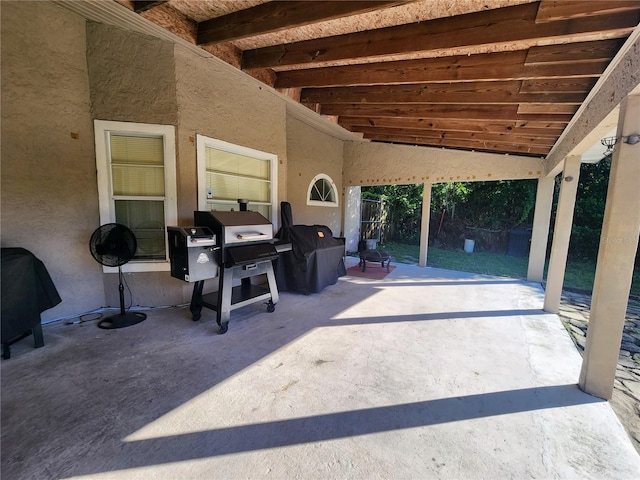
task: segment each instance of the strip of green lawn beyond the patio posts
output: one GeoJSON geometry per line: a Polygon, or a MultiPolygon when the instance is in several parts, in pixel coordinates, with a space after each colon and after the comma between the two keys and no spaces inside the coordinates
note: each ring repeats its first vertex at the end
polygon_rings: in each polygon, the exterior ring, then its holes
{"type": "MultiPolygon", "coordinates": [[[[417,245],[387,243],[380,245],[379,248],[388,251],[395,262],[418,263],[420,248],[417,245]]],[[[526,278],[528,259],[526,257],[510,257],[501,253],[466,253],[462,249],[443,250],[441,248],[429,247],[427,265],[447,270],[459,270],[484,275],[526,278]]],[[[564,286],[591,292],[595,272],[595,264],[569,260],[564,277],[564,286]]],[[[640,296],[640,270],[634,271],[631,294],[633,296],[640,296]]]]}

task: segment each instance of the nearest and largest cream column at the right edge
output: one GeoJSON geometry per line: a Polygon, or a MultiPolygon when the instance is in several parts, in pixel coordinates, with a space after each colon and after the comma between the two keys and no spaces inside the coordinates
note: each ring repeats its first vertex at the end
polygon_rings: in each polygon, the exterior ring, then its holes
{"type": "MultiPolygon", "coordinates": [[[[640,133],[640,95],[620,106],[618,138],[640,133]]],[[[611,398],[640,235],[640,144],[620,141],[611,160],[587,343],[579,385],[611,398]]]]}

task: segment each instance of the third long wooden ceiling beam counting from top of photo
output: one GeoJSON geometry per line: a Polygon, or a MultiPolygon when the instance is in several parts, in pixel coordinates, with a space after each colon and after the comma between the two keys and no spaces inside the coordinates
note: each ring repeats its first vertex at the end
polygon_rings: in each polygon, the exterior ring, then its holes
{"type": "Polygon", "coordinates": [[[526,51],[399,60],[279,72],[276,88],[598,77],[606,60],[524,65],[526,51]]]}

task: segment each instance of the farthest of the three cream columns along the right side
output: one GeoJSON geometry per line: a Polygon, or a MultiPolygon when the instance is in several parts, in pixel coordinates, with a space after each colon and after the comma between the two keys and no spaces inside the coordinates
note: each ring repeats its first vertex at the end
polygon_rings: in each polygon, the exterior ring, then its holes
{"type": "Polygon", "coordinates": [[[538,180],[536,206],[533,212],[531,250],[529,251],[529,269],[527,271],[527,280],[530,282],[542,282],[544,278],[554,185],[555,177],[553,176],[538,180]]]}

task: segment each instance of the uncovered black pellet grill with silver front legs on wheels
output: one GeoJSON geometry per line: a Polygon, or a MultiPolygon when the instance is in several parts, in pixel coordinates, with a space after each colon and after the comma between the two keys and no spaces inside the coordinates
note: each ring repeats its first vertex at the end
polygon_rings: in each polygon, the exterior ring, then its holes
{"type": "Polygon", "coordinates": [[[225,333],[232,310],[265,302],[267,311],[273,312],[279,296],[272,260],[287,250],[287,246],[274,244],[271,222],[259,213],[247,210],[195,211],[193,218],[196,227],[192,228],[210,230],[215,237],[217,263],[216,273],[211,273],[210,277],[192,279],[189,275],[189,279],[185,279],[174,275],[171,256],[171,274],[181,280],[195,282],[190,305],[193,320],[200,319],[202,307],[210,308],[216,312],[220,333],[225,333]],[[268,288],[251,283],[251,277],[262,274],[267,276],[268,288]],[[203,295],[205,280],[215,277],[218,278],[218,291],[203,295]],[[238,279],[240,285],[233,286],[234,280],[238,279]]]}

